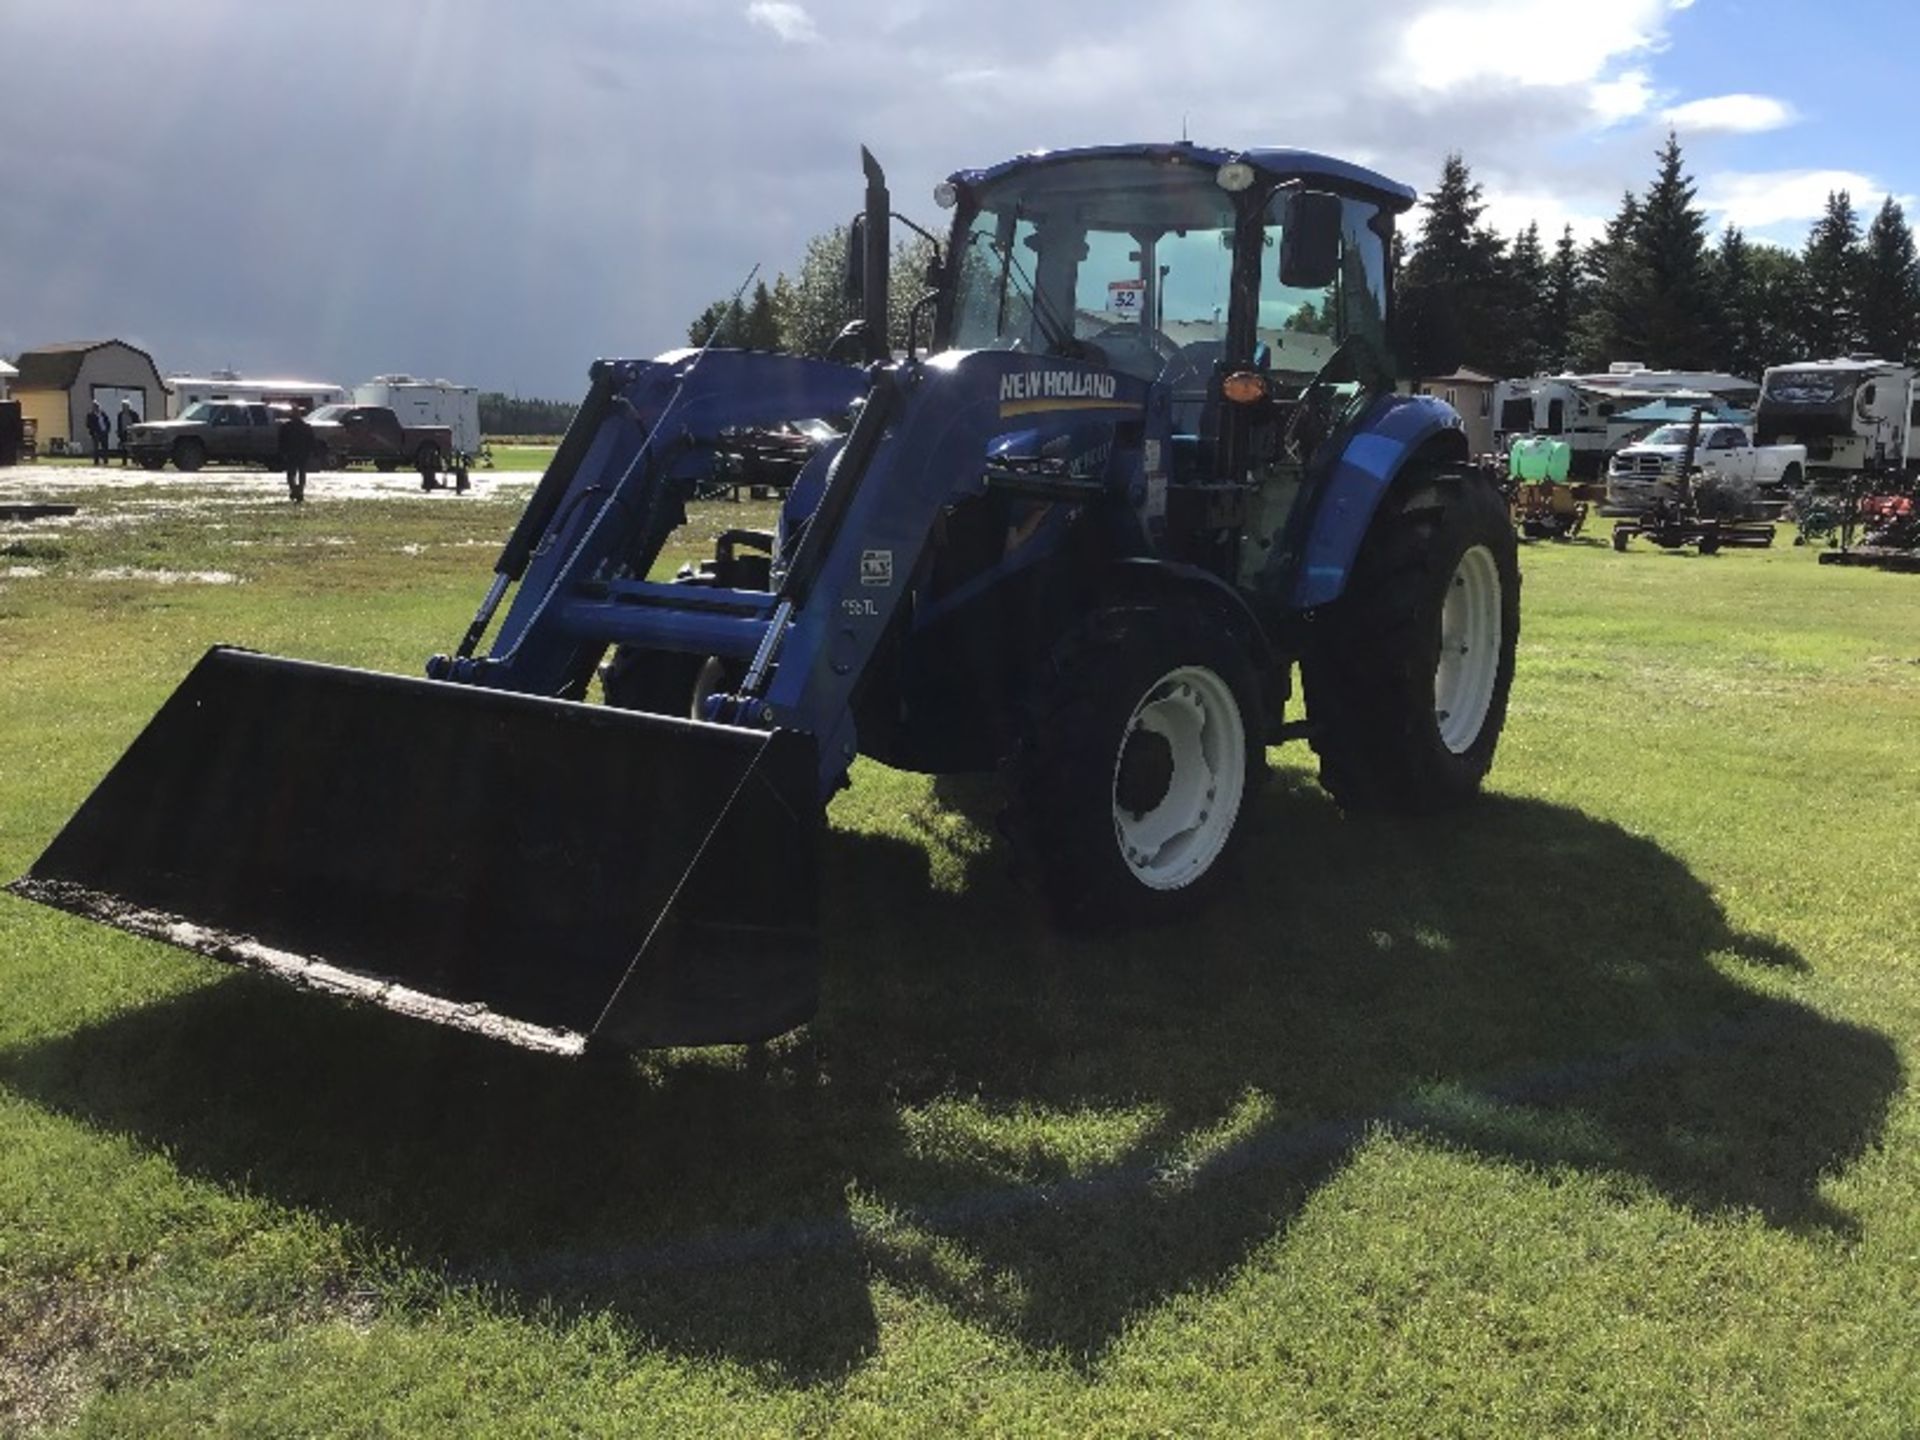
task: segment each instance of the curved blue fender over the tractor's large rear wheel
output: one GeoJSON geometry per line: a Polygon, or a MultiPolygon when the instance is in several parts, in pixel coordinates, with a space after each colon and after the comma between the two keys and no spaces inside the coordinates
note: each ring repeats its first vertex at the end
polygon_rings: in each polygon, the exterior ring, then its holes
{"type": "Polygon", "coordinates": [[[1294,578],[1294,609],[1340,599],[1380,495],[1428,445],[1448,459],[1467,459],[1467,434],[1452,405],[1432,396],[1380,396],[1373,401],[1327,478],[1315,486],[1317,503],[1294,578]]]}

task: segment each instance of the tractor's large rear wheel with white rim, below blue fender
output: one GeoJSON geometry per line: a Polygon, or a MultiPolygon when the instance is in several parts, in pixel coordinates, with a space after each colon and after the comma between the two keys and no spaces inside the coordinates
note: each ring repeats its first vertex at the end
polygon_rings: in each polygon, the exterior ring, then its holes
{"type": "Polygon", "coordinates": [[[1342,810],[1427,814],[1478,793],[1507,720],[1521,568],[1478,476],[1413,476],[1375,515],[1300,674],[1342,810]]]}

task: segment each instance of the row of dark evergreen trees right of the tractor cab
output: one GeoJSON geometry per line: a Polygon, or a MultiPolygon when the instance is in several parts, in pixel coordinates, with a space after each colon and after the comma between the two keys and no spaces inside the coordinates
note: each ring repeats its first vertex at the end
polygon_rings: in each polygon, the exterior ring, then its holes
{"type": "Polygon", "coordinates": [[[1469,365],[1496,376],[1659,371],[1759,376],[1768,365],[1920,351],[1920,267],[1891,196],[1864,227],[1845,190],[1828,194],[1801,250],[1747,240],[1728,225],[1713,242],[1680,140],[1668,134],[1642,194],[1628,190],[1586,246],[1572,227],[1551,252],[1540,227],[1511,240],[1482,225],[1480,184],[1459,154],[1427,196],[1400,263],[1398,298],[1423,374],[1469,365]]]}

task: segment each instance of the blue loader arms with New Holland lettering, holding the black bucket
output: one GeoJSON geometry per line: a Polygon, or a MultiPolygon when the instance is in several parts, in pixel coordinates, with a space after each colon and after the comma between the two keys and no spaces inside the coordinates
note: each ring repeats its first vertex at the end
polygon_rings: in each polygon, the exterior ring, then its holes
{"type": "MultiPolygon", "coordinates": [[[[1139,422],[1148,386],[1087,365],[956,351],[870,374],[820,361],[708,351],[622,363],[609,413],[532,547],[492,649],[436,659],[438,678],[578,697],[611,645],[718,655],[749,687],[710,718],[810,735],[824,804],[860,749],[852,693],[908,595],[941,511],[985,486],[993,436],[1094,419],[1139,422]],[[835,457],[776,588],[660,584],[647,570],[726,430],[847,409],[860,419],[835,457]]],[[[1135,424],[1139,430],[1139,424],[1135,424]]],[[[1125,488],[1140,445],[1117,447],[1125,488]]]]}

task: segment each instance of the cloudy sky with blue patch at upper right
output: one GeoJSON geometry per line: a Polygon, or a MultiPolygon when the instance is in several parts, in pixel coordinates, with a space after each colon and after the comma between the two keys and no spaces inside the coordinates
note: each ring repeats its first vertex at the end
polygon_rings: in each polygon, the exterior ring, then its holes
{"type": "Polygon", "coordinates": [[[574,399],[1035,148],[1300,146],[1597,232],[1676,129],[1715,228],[1920,219],[1912,0],[0,0],[0,355],[574,399]]]}

